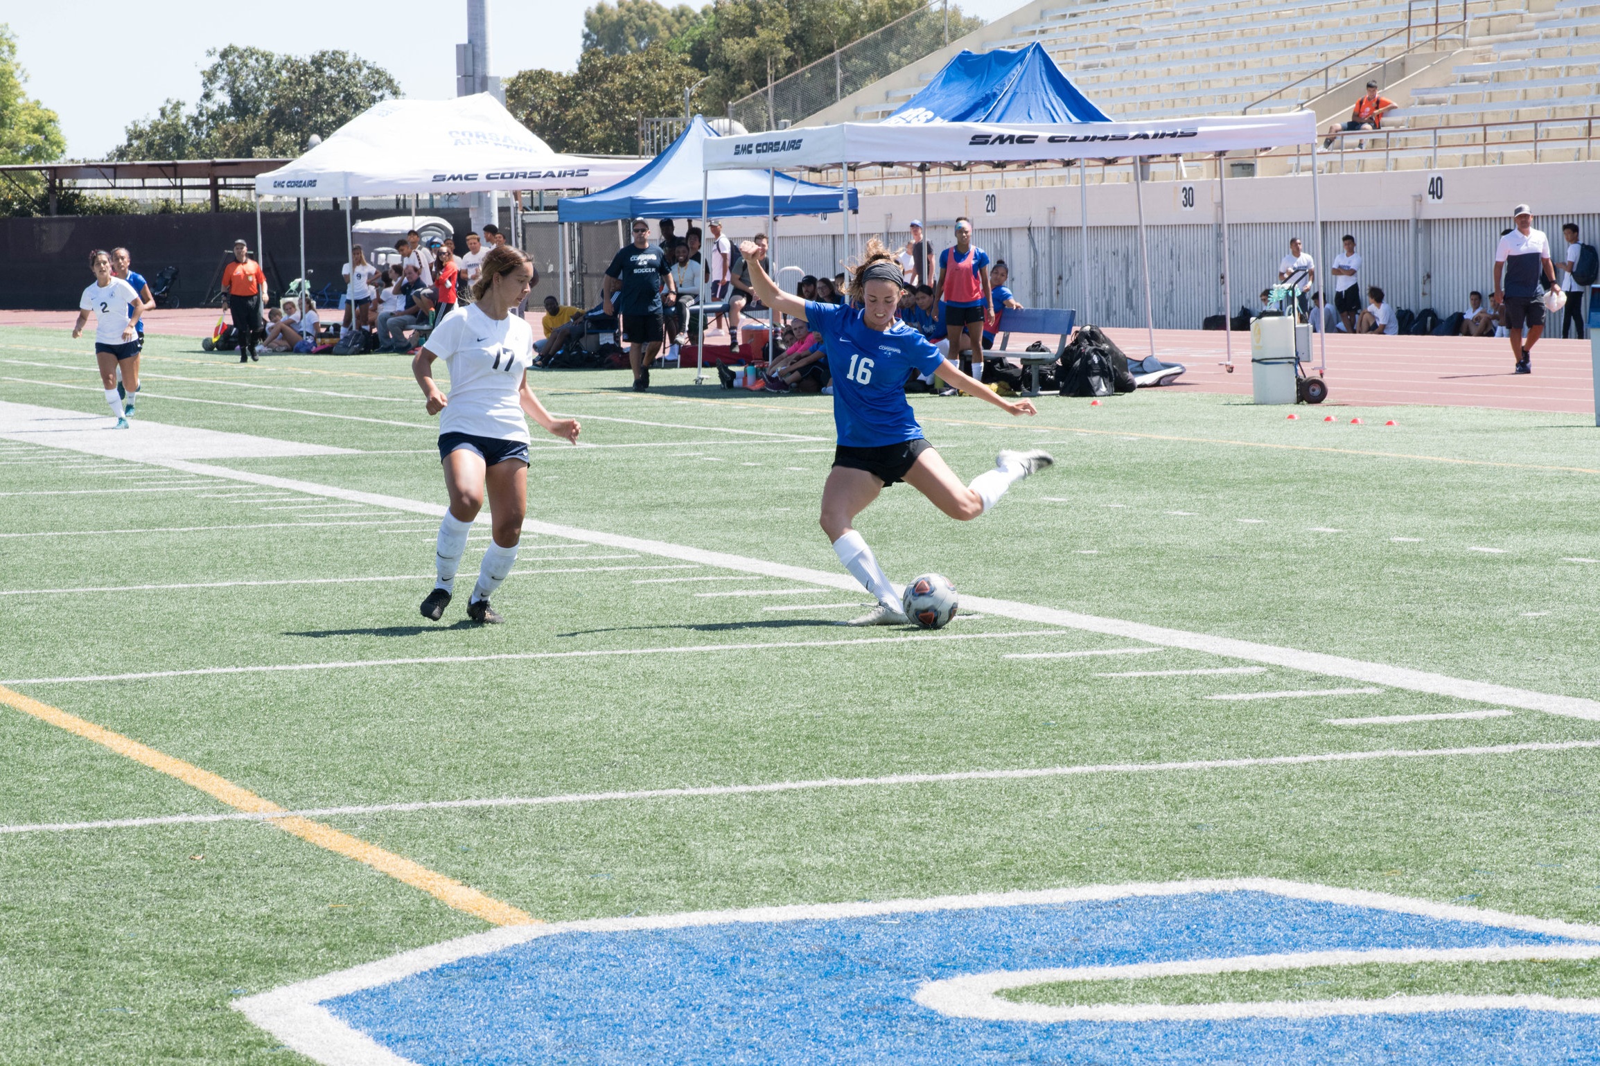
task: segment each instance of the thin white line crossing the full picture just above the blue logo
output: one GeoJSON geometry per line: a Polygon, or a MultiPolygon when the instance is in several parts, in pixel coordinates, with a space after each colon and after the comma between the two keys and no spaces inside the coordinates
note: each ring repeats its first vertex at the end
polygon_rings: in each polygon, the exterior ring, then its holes
{"type": "Polygon", "coordinates": [[[1554,740],[1475,748],[1384,748],[1379,751],[1326,751],[1317,754],[1278,754],[1243,759],[1189,759],[1173,762],[1101,762],[1088,766],[1048,766],[1010,770],[954,770],[947,774],[885,774],[882,777],[827,777],[798,782],[765,782],[757,785],[702,785],[688,788],[645,788],[613,793],[565,793],[555,796],[496,796],[491,799],[427,799],[418,802],[352,804],[344,807],[309,807],[280,812],[182,813],[149,818],[106,818],[99,821],[53,821],[0,825],[8,833],[62,833],[75,829],[136,829],[158,825],[206,821],[261,821],[266,818],[328,818],[336,815],[413,813],[422,810],[470,810],[482,807],[546,807],[560,804],[637,802],[645,799],[686,799],[694,796],[750,796],[763,793],[798,793],[832,788],[894,788],[902,785],[954,785],[962,782],[1013,782],[1053,777],[1091,777],[1099,774],[1187,774],[1206,770],[1243,770],[1253,767],[1314,766],[1322,762],[1371,762],[1384,759],[1450,759],[1522,754],[1533,751],[1587,751],[1600,748],[1600,740],[1554,740]]]}

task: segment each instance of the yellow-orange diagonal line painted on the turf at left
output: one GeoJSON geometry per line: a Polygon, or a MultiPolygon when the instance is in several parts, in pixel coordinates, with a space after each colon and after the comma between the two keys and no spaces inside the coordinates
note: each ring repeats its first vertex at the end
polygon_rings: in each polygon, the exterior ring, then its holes
{"type": "MultiPolygon", "coordinates": [[[[211,796],[235,810],[245,810],[250,813],[272,813],[275,810],[283,810],[283,807],[277,805],[270,799],[264,799],[248,788],[240,788],[224,777],[218,777],[210,770],[202,770],[200,767],[184,762],[182,759],[174,759],[173,756],[157,751],[149,745],[142,745],[138,740],[123,737],[118,732],[96,726],[94,722],[82,719],[77,714],[69,714],[61,708],[40,703],[32,697],[13,692],[3,686],[0,686],[0,703],[6,703],[24,714],[32,714],[42,722],[50,722],[51,726],[64,729],[69,734],[91,740],[102,748],[133,759],[134,762],[142,762],[152,770],[166,774],[168,777],[176,777],[184,785],[197,788],[206,796],[211,796]]],[[[483,895],[470,885],[461,884],[454,877],[446,877],[445,874],[435,873],[427,866],[413,863],[410,858],[402,858],[400,855],[384,850],[376,844],[368,844],[366,841],[354,837],[349,833],[334,829],[330,825],[312,821],[310,818],[301,818],[298,815],[267,818],[266,821],[283,829],[285,833],[301,837],[302,841],[309,841],[317,847],[325,847],[336,855],[354,858],[355,861],[371,866],[379,873],[389,874],[395,881],[408,884],[413,889],[421,889],[440,903],[445,903],[458,911],[466,911],[474,917],[482,917],[485,922],[493,925],[530,925],[539,921],[526,911],[483,895]]]]}

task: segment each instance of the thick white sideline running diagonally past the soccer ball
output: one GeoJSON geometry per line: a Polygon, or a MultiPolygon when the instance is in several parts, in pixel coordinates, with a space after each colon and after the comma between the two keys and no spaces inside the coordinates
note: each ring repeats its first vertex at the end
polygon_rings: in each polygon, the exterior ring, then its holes
{"type": "MultiPolygon", "coordinates": [[[[150,465],[165,467],[168,470],[182,470],[184,473],[211,475],[218,478],[229,478],[232,481],[243,481],[274,489],[293,489],[296,492],[306,492],[310,495],[326,495],[331,499],[342,499],[357,503],[376,503],[379,507],[392,507],[395,510],[410,511],[414,515],[426,515],[434,519],[440,518],[445,513],[445,507],[442,503],[427,503],[422,500],[387,495],[381,492],[362,492],[357,489],[318,484],[314,481],[299,481],[294,478],[280,478],[275,475],[234,470],[230,467],[222,467],[214,462],[194,462],[187,459],[150,459],[147,462],[150,465]]],[[[480,521],[483,521],[483,516],[480,516],[480,521]]],[[[557,523],[546,523],[536,519],[525,521],[523,531],[531,534],[562,537],[565,540],[584,540],[594,545],[638,551],[642,555],[654,555],[669,559],[680,559],[685,563],[698,563],[701,566],[715,566],[728,571],[760,574],[765,577],[781,577],[792,582],[803,582],[803,583],[819,585],[824,588],[834,588],[850,595],[859,595],[861,591],[861,587],[856,583],[856,579],[843,572],[814,571],[803,566],[771,563],[768,559],[755,559],[750,556],[734,555],[731,551],[712,551],[707,548],[669,543],[664,540],[650,540],[645,537],[629,537],[624,534],[579,529],[574,526],[562,526],[557,523]]],[[[29,534],[0,534],[0,535],[14,537],[29,534]]],[[[1470,700],[1475,703],[1490,703],[1494,706],[1514,706],[1530,711],[1542,711],[1546,714],[1560,714],[1566,718],[1581,718],[1586,721],[1600,721],[1600,702],[1589,700],[1584,697],[1560,695],[1552,692],[1534,692],[1531,689],[1517,689],[1512,686],[1502,686],[1486,681],[1451,678],[1448,674],[1432,673],[1426,670],[1414,670],[1411,666],[1390,666],[1387,663],[1374,663],[1360,658],[1349,658],[1344,655],[1307,652],[1296,647],[1280,647],[1275,644],[1261,644],[1256,641],[1243,641],[1230,636],[1194,633],[1189,630],[1149,625],[1144,622],[1128,622],[1125,619],[1107,619],[1099,615],[1082,614],[1077,611],[1061,611],[1058,607],[1045,607],[1038,604],[1019,603],[1014,599],[992,599],[989,596],[963,596],[963,606],[976,614],[1000,615],[1035,625],[1051,625],[1069,630],[1082,630],[1086,633],[1101,633],[1106,636],[1144,641],[1162,647],[1181,647],[1186,650],[1205,652],[1224,658],[1262,663],[1269,666],[1286,666],[1291,670],[1301,670],[1312,674],[1346,678],[1349,681],[1362,681],[1366,684],[1381,684],[1390,689],[1405,689],[1408,692],[1448,695],[1451,698],[1470,700]]]]}

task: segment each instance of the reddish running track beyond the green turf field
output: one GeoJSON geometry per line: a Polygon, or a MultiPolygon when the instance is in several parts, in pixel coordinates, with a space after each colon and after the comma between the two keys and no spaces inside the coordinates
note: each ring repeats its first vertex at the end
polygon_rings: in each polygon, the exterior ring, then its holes
{"type": "MultiPolygon", "coordinates": [[[[216,310],[154,310],[150,332],[210,337],[216,310]]],[[[0,326],[72,329],[75,312],[0,310],[0,326]]],[[[528,315],[541,336],[539,315],[528,315]]],[[[1123,352],[1144,356],[1150,350],[1144,329],[1107,329],[1123,352]]],[[[1013,350],[1032,337],[1014,336],[1013,350]]],[[[1166,363],[1189,368],[1173,388],[1250,395],[1250,334],[1235,332],[1234,372],[1227,374],[1222,332],[1157,329],[1155,353],[1166,363]]],[[[1054,344],[1054,337],[1045,339],[1054,344]]],[[[1312,350],[1320,337],[1312,339],[1312,350]]],[[[1546,337],[1533,350],[1533,374],[1512,374],[1510,342],[1493,337],[1328,337],[1330,404],[1445,404],[1592,414],[1594,379],[1587,340],[1546,337]]]]}

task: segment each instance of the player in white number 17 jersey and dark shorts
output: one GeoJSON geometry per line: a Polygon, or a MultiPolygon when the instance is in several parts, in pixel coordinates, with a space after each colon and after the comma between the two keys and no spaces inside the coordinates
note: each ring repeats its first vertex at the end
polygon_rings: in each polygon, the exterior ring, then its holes
{"type": "Polygon", "coordinates": [[[578,443],[578,420],[555,419],[528,390],[533,329],[517,305],[539,280],[538,270],[515,248],[502,245],[483,259],[472,304],[445,315],[427,344],[411,360],[427,412],[438,416],[438,457],[445,465],[450,510],[438,523],[434,556],[438,580],[422,601],[422,617],[438,622],[450,606],[467,532],[483,508],[488,484],[493,539],[483,551],[478,583],[467,599],[474,622],[504,622],[490,595],[517,561],[522,519],[528,513],[528,422],[578,443]],[[434,360],[450,368],[450,395],[434,382],[434,360]]]}

